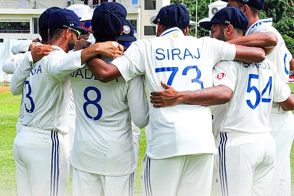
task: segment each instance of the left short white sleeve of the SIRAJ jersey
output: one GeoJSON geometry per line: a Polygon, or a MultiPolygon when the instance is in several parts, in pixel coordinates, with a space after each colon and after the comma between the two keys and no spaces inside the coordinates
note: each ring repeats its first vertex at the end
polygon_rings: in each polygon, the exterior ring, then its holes
{"type": "Polygon", "coordinates": [[[133,42],[123,55],[111,62],[120,71],[125,81],[145,74],[145,57],[143,53],[145,53],[144,51],[146,51],[147,47],[144,42],[140,41],[133,42]]]}

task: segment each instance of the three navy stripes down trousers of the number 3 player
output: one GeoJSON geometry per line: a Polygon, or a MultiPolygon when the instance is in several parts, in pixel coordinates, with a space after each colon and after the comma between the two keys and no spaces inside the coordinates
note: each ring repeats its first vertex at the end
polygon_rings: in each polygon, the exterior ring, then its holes
{"type": "Polygon", "coordinates": [[[59,139],[57,131],[51,131],[52,151],[51,151],[51,186],[50,195],[58,196],[59,185],[59,139]]]}

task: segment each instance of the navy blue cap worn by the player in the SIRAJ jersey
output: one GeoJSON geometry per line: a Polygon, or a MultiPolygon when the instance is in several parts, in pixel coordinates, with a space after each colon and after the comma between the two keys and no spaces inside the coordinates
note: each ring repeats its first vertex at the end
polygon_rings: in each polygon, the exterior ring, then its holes
{"type": "Polygon", "coordinates": [[[162,7],[156,18],[152,21],[153,24],[158,22],[167,27],[178,27],[184,29],[190,23],[189,11],[180,4],[172,4],[162,7]]]}

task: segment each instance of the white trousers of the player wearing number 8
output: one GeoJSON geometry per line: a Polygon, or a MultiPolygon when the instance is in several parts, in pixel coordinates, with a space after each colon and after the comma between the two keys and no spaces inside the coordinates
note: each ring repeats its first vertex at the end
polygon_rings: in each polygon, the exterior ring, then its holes
{"type": "Polygon", "coordinates": [[[134,172],[124,176],[104,176],[70,166],[73,196],[133,196],[134,172]]]}

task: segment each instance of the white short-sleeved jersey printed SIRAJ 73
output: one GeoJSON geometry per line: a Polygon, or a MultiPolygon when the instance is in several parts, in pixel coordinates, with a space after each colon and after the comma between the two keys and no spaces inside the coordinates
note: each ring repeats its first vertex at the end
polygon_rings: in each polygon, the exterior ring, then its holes
{"type": "MultiPolygon", "coordinates": [[[[235,59],[235,45],[204,37],[185,36],[175,27],[160,37],[133,42],[124,55],[112,61],[126,81],[145,75],[148,96],[163,91],[160,81],[177,91],[211,87],[213,66],[235,59]]],[[[217,153],[209,106],[149,105],[150,131],[147,155],[163,159],[188,154],[217,153]]],[[[133,116],[132,116],[133,117],[133,116]]]]}

